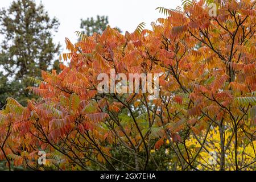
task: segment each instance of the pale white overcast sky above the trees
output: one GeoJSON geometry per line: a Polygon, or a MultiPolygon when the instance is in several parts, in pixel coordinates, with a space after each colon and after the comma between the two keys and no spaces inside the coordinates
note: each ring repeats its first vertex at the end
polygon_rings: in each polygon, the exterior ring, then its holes
{"type": "MultiPolygon", "coordinates": [[[[0,7],[9,7],[13,0],[0,0],[0,7]]],[[[43,3],[48,14],[60,21],[55,42],[64,47],[65,37],[75,43],[75,31],[80,31],[80,19],[108,15],[111,27],[119,27],[123,32],[133,32],[139,23],[150,23],[162,16],[156,7],[175,9],[181,6],[180,0],[35,0],[43,3]]],[[[1,37],[0,37],[1,40],[1,37]]]]}

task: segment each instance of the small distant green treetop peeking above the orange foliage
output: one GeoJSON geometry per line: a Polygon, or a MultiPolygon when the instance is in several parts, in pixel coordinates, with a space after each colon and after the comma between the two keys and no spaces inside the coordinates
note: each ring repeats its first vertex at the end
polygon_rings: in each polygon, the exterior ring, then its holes
{"type": "MultiPolygon", "coordinates": [[[[97,19],[93,19],[93,17],[87,18],[86,20],[81,19],[80,28],[82,29],[83,34],[86,34],[87,36],[92,36],[94,32],[102,34],[108,24],[108,16],[97,15],[97,19]]],[[[117,30],[121,32],[119,28],[117,28],[117,30]]]]}

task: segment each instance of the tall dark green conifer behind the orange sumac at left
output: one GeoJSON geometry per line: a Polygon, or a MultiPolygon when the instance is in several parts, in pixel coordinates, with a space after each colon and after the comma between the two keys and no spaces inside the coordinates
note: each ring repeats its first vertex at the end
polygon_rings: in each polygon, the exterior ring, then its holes
{"type": "Polygon", "coordinates": [[[25,89],[30,85],[28,77],[40,78],[41,70],[51,69],[60,45],[55,45],[52,32],[59,27],[56,18],[50,19],[43,5],[31,0],[18,0],[9,9],[0,11],[1,44],[0,64],[3,91],[0,107],[5,104],[6,93],[22,104],[31,98],[25,89]],[[7,89],[7,90],[6,90],[7,89]]]}

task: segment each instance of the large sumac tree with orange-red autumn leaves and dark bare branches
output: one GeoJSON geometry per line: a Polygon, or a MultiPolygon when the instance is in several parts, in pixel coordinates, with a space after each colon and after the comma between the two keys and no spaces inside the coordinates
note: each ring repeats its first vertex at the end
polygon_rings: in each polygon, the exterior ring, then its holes
{"type": "Polygon", "coordinates": [[[217,17],[205,3],[159,7],[167,18],[152,31],[107,27],[76,44],[67,39],[70,64],[29,88],[41,100],[24,107],[9,98],[1,111],[1,159],[56,170],[255,169],[254,2],[226,2],[217,17]],[[98,75],[111,69],[160,73],[159,97],[98,92],[98,75]],[[48,154],[43,167],[39,150],[48,154]]]}

